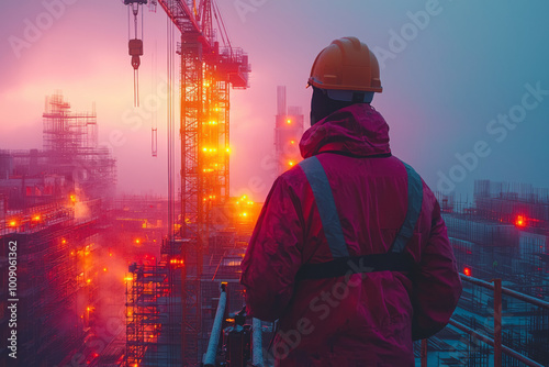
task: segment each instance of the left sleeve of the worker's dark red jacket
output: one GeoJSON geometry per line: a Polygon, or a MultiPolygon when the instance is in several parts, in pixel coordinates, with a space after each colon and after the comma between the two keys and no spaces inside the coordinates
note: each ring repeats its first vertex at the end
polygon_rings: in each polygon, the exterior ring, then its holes
{"type": "Polygon", "coordinates": [[[301,267],[303,226],[299,199],[279,177],[264,204],[242,262],[240,283],[249,315],[265,321],[279,319],[292,298],[301,267]]]}

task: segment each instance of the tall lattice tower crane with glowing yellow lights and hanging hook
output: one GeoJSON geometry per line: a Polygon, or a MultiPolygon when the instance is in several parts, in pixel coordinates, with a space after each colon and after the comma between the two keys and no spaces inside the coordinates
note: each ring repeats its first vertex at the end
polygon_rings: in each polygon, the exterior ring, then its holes
{"type": "MultiPolygon", "coordinates": [[[[181,353],[183,365],[192,366],[198,365],[200,275],[202,255],[208,249],[210,211],[228,199],[229,87],[248,88],[250,67],[242,48],[232,46],[214,0],[124,0],[135,21],[135,37],[130,40],[134,73],[137,73],[139,56],[144,54],[137,16],[139,9],[147,3],[149,7],[159,3],[181,33],[180,49],[177,51],[181,59],[181,207],[180,215],[171,213],[170,233],[163,244],[163,254],[171,259],[180,258],[184,264],[182,289],[179,290],[181,353]],[[175,218],[179,218],[177,232],[173,230],[175,218]]],[[[168,185],[173,185],[175,176],[169,174],[168,185]]]]}

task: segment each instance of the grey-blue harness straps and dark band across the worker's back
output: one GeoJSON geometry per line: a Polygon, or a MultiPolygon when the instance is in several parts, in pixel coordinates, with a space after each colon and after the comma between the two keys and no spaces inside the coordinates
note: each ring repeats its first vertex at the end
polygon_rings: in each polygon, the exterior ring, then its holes
{"type": "Polygon", "coordinates": [[[423,202],[423,182],[419,175],[411,166],[403,164],[407,173],[408,205],[404,223],[400,227],[389,252],[385,254],[349,256],[332,188],[322,164],[315,156],[300,163],[313,190],[324,235],[334,260],[321,264],[304,264],[298,273],[298,279],[324,279],[357,273],[410,271],[412,269],[413,260],[404,253],[404,247],[412,238],[419,218],[423,202]]]}

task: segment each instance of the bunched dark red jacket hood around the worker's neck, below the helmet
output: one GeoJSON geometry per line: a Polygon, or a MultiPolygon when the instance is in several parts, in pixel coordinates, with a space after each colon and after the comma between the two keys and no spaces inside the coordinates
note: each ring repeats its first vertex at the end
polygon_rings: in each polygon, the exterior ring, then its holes
{"type": "Polygon", "coordinates": [[[370,104],[352,104],[306,130],[301,137],[300,151],[303,158],[326,151],[358,156],[390,154],[389,125],[370,104]]]}

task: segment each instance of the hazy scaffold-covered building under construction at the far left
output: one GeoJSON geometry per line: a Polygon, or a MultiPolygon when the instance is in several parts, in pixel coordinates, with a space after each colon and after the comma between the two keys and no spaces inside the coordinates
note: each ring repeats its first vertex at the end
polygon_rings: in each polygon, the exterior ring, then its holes
{"type": "Polygon", "coordinates": [[[98,147],[96,113],[71,113],[60,93],[46,99],[43,126],[43,149],[0,152],[0,336],[18,336],[18,358],[3,343],[0,366],[60,363],[101,298],[93,258],[104,252],[115,160],[98,147]],[[8,302],[16,313],[4,312],[8,302]]]}

